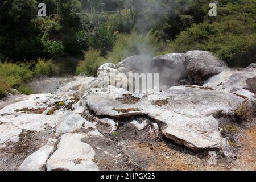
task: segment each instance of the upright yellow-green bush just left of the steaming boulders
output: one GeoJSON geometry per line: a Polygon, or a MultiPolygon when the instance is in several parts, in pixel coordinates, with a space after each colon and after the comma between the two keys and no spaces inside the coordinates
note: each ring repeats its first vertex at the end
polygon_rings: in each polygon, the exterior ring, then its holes
{"type": "Polygon", "coordinates": [[[88,76],[97,76],[98,68],[105,63],[104,57],[101,57],[101,51],[90,49],[85,52],[85,59],[80,61],[76,68],[76,75],[85,72],[88,76]]]}

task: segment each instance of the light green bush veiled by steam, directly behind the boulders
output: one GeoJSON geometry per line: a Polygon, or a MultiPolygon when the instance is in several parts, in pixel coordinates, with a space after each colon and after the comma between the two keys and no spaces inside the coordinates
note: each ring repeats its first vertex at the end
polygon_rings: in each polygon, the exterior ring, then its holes
{"type": "Polygon", "coordinates": [[[148,33],[146,36],[133,32],[130,35],[121,34],[113,46],[113,51],[108,53],[108,60],[118,63],[126,57],[134,55],[154,56],[159,50],[159,43],[148,33]]]}

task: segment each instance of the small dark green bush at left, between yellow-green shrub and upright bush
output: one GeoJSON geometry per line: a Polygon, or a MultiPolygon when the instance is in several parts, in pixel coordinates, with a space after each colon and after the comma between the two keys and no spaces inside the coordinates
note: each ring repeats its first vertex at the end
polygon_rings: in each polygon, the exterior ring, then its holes
{"type": "Polygon", "coordinates": [[[47,76],[53,77],[58,76],[60,68],[52,63],[52,60],[38,59],[38,63],[35,66],[35,75],[36,76],[47,76]]]}

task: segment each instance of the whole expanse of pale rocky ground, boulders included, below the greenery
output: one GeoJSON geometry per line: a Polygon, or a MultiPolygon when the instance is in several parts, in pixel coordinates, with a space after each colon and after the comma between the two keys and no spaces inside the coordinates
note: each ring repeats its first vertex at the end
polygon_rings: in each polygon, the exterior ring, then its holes
{"type": "Polygon", "coordinates": [[[205,51],[107,63],[55,93],[0,101],[0,170],[254,170],[255,88],[255,64],[205,51]],[[101,88],[110,71],[160,73],[160,92],[101,88]]]}

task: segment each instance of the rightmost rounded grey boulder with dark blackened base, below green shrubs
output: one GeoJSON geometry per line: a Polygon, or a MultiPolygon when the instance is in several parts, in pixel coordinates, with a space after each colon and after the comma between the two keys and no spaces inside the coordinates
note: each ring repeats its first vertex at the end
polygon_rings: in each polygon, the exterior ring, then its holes
{"type": "Polygon", "coordinates": [[[189,51],[185,54],[189,80],[203,82],[226,68],[224,61],[207,51],[189,51]]]}

